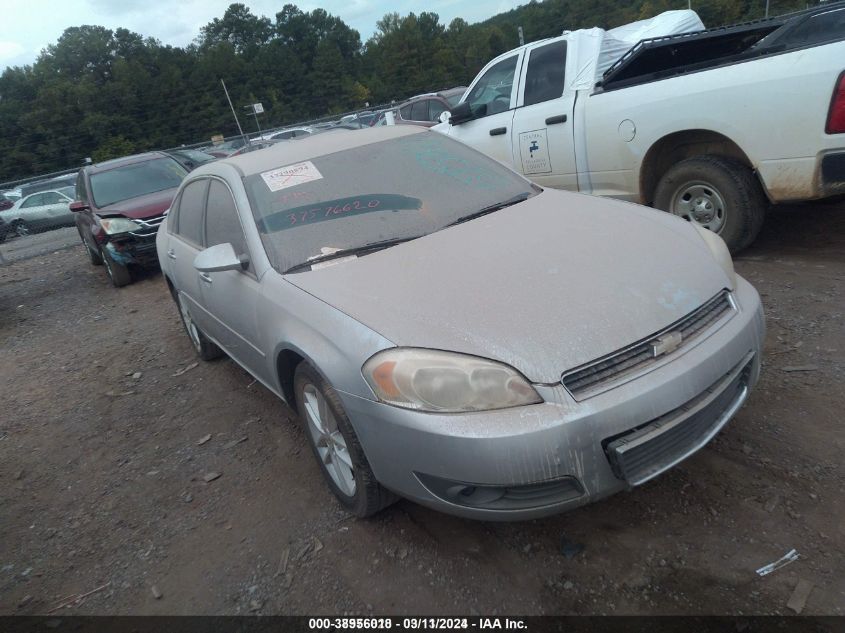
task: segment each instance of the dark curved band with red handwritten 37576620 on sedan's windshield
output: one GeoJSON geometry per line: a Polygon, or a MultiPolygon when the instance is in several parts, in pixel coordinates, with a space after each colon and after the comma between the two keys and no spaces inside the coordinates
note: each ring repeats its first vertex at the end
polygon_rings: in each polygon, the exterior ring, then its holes
{"type": "Polygon", "coordinates": [[[409,198],[392,193],[375,193],[327,200],[284,211],[277,211],[261,220],[262,233],[274,233],[294,226],[315,224],[325,220],[371,213],[373,211],[418,211],[422,207],[419,198],[409,198]]]}

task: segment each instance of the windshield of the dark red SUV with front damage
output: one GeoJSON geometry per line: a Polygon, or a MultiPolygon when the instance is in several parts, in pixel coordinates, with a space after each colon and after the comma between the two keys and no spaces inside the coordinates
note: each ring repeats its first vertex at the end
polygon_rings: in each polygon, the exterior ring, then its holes
{"type": "Polygon", "coordinates": [[[98,207],[178,187],[187,172],[172,158],[154,158],[91,176],[91,193],[98,207]]]}

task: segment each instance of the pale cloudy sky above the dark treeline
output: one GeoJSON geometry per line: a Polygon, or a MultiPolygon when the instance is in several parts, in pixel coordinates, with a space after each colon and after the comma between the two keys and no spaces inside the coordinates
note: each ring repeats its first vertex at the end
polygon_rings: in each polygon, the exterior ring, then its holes
{"type": "MultiPolygon", "coordinates": [[[[185,46],[200,27],[223,17],[233,0],[0,0],[0,70],[32,64],[42,49],[54,44],[69,26],[94,24],[124,27],[164,44],[185,46]]],[[[271,20],[285,4],[303,11],[322,8],[357,29],[366,41],[376,21],[392,11],[400,15],[433,11],[442,24],[456,17],[478,22],[527,0],[241,0],[256,15],[271,20]]]]}

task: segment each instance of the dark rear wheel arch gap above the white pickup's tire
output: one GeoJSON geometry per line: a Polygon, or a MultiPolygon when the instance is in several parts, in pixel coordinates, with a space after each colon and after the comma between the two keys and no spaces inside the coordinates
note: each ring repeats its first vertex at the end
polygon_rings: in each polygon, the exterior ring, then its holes
{"type": "MultiPolygon", "coordinates": [[[[712,130],[683,130],[667,134],[648,149],[640,163],[640,203],[654,203],[654,193],[660,178],[672,165],[694,156],[720,156],[736,160],[754,171],[748,155],[730,138],[712,130]]],[[[759,181],[759,177],[756,175],[759,181]]],[[[760,183],[766,191],[763,183],[760,183]]]]}

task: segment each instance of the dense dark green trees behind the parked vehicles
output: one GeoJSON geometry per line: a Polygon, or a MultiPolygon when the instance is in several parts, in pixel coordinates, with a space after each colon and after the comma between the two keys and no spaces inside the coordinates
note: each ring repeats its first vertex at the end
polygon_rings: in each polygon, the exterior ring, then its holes
{"type": "MultiPolygon", "coordinates": [[[[762,17],[765,0],[693,1],[707,26],[762,17]],[[700,5],[700,6],[699,6],[700,5]]],[[[772,0],[772,13],[805,0],[772,0]]],[[[360,34],[322,9],[285,5],[273,18],[232,4],[193,44],[165,46],[126,29],[66,29],[32,66],[0,76],[0,182],[154,148],[200,142],[237,127],[232,101],[261,102],[262,127],[466,85],[494,56],[564,29],[610,28],[687,0],[532,0],[478,24],[436,13],[385,15],[360,34]]],[[[254,120],[242,125],[254,130],[254,120]]]]}

